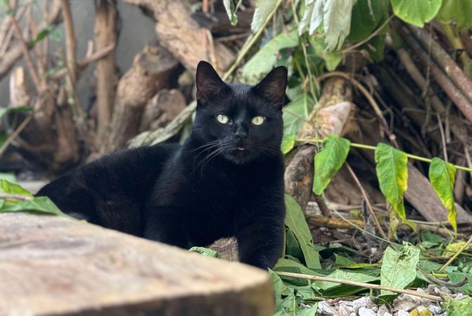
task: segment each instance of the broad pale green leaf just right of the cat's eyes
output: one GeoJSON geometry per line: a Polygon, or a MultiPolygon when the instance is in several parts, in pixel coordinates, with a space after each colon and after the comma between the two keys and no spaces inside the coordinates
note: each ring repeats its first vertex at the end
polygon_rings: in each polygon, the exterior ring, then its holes
{"type": "Polygon", "coordinates": [[[311,96],[304,92],[283,107],[283,135],[296,134],[314,107],[311,96]]]}

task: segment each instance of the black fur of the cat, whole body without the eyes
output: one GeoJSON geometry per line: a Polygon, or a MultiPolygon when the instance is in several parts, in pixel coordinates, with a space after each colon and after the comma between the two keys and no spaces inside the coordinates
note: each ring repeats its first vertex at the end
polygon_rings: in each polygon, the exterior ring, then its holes
{"type": "Polygon", "coordinates": [[[272,267],[283,247],[286,82],[286,69],[277,67],[253,87],[225,84],[200,62],[197,114],[182,146],[113,153],[37,195],[76,218],[183,248],[235,236],[240,261],[272,267]],[[222,124],[218,114],[231,120],[222,124]],[[265,122],[254,125],[255,116],[265,122]]]}

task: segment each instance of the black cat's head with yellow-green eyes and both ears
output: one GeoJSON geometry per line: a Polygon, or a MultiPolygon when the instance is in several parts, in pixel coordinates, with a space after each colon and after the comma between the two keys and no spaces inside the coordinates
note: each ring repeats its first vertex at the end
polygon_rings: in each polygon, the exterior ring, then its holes
{"type": "Polygon", "coordinates": [[[226,84],[207,62],[197,67],[192,137],[207,154],[236,164],[280,154],[287,70],[274,68],[255,86],[226,84]]]}

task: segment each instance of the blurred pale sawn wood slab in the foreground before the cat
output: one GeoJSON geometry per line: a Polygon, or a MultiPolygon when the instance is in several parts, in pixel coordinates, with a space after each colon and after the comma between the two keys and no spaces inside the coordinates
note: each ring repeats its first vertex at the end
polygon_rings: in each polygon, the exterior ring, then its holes
{"type": "Polygon", "coordinates": [[[0,315],[271,315],[268,273],[59,216],[0,213],[0,315]]]}

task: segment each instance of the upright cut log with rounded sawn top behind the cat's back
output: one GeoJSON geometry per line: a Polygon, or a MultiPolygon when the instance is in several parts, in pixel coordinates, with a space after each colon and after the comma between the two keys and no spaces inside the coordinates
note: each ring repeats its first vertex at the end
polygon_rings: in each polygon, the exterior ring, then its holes
{"type": "Polygon", "coordinates": [[[178,62],[163,47],[146,47],[120,79],[109,129],[100,151],[111,153],[125,146],[138,133],[143,107],[159,90],[167,88],[178,62]]]}

